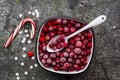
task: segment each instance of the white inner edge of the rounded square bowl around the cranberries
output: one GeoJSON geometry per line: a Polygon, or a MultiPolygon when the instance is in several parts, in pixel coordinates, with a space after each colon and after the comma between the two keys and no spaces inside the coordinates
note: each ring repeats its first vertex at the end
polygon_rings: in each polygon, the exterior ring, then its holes
{"type": "MultiPolygon", "coordinates": [[[[70,18],[66,18],[66,19],[70,19],[70,18]]],[[[73,19],[74,20],[74,19],[73,19]]],[[[49,21],[49,20],[48,20],[49,21]]],[[[78,21],[78,20],[75,20],[75,21],[78,21]]],[[[79,22],[79,21],[78,21],[79,22]]],[[[46,22],[45,22],[46,23],[46,22]]],[[[44,23],[44,24],[45,24],[44,23]]],[[[38,51],[38,47],[39,47],[39,38],[40,38],[40,33],[41,33],[41,30],[42,30],[42,28],[43,28],[43,26],[44,26],[44,24],[42,25],[42,27],[40,28],[40,31],[39,31],[39,34],[38,34],[38,39],[37,39],[37,59],[38,59],[38,62],[39,62],[39,64],[44,68],[44,69],[46,69],[46,70],[48,70],[48,71],[51,71],[51,72],[54,72],[54,73],[59,73],[59,74],[77,74],[77,73],[82,73],[83,71],[85,71],[86,69],[87,69],[87,67],[89,66],[89,64],[90,64],[90,61],[91,61],[91,58],[92,58],[92,54],[93,54],[93,47],[94,47],[94,40],[93,40],[93,37],[92,37],[92,48],[91,48],[91,54],[89,55],[89,56],[87,56],[87,65],[83,68],[83,69],[81,69],[80,71],[72,71],[72,72],[66,72],[66,71],[55,71],[53,68],[46,68],[46,67],[44,67],[44,65],[40,62],[40,60],[39,60],[39,51],[38,51]]],[[[91,31],[91,30],[90,30],[91,31]]],[[[91,31],[91,33],[92,33],[92,31],[91,31]]],[[[93,35],[93,33],[92,33],[92,35],[93,35]]]]}

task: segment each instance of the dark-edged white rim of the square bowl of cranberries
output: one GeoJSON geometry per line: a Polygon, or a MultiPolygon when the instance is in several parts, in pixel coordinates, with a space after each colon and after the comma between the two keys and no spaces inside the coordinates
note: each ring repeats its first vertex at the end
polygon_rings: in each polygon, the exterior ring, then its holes
{"type": "Polygon", "coordinates": [[[53,18],[50,18],[50,19],[48,19],[47,21],[45,21],[42,25],[41,25],[41,28],[39,29],[39,33],[38,33],[38,39],[37,39],[37,48],[36,48],[36,51],[37,51],[37,60],[38,60],[38,62],[39,62],[39,64],[44,68],[44,69],[46,69],[46,70],[48,70],[48,71],[51,71],[51,72],[54,72],[54,73],[59,73],[59,74],[78,74],[78,73],[81,73],[81,72],[83,72],[83,71],[85,71],[86,69],[87,69],[87,67],[89,66],[89,64],[90,64],[90,61],[91,61],[91,58],[92,58],[92,55],[93,55],[93,51],[94,51],[94,33],[93,33],[93,30],[92,30],[92,28],[90,28],[89,29],[89,31],[90,31],[90,33],[92,34],[92,47],[91,47],[91,51],[90,51],[90,55],[89,56],[87,56],[87,65],[83,68],[83,69],[81,69],[81,70],[79,70],[79,71],[71,71],[71,72],[66,72],[66,71],[55,71],[53,68],[47,68],[47,67],[45,67],[44,65],[43,65],[43,63],[41,62],[41,60],[40,60],[40,55],[41,55],[41,52],[40,52],[40,49],[39,49],[39,45],[41,45],[42,43],[40,43],[39,42],[39,38],[41,37],[40,35],[41,35],[41,33],[42,33],[42,29],[44,28],[44,26],[45,26],[45,24],[46,24],[46,22],[48,22],[48,21],[51,21],[51,20],[54,20],[54,19],[58,19],[58,18],[62,18],[62,19],[72,19],[72,20],[75,20],[75,21],[78,21],[78,22],[80,22],[80,23],[84,23],[85,24],[85,22],[83,22],[83,21],[81,21],[81,20],[79,20],[79,19],[73,19],[73,18],[71,18],[71,17],[53,17],[53,18]]]}

